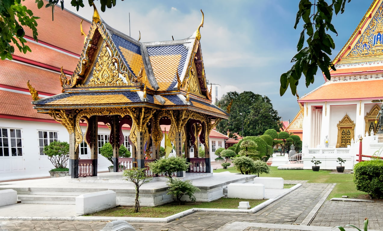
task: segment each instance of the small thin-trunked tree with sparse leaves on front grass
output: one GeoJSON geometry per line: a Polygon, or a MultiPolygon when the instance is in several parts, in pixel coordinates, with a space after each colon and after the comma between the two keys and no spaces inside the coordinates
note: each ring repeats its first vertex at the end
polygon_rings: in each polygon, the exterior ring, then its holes
{"type": "Polygon", "coordinates": [[[142,184],[149,181],[148,177],[145,175],[145,169],[133,168],[130,170],[124,170],[123,176],[126,177],[126,180],[133,182],[136,185],[136,198],[134,199],[134,212],[139,213],[140,211],[140,202],[138,201],[139,189],[142,184]]]}

